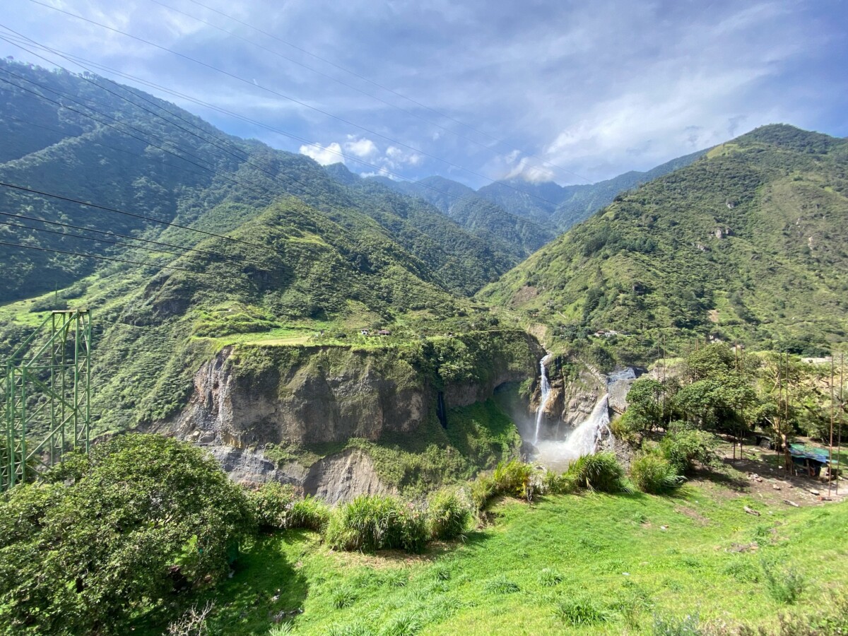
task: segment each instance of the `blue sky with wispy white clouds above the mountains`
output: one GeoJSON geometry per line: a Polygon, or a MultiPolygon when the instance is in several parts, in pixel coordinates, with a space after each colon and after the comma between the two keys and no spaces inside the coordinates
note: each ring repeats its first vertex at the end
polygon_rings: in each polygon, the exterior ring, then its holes
{"type": "MultiPolygon", "coordinates": [[[[3,0],[0,25],[232,134],[394,178],[583,183],[767,123],[848,136],[842,0],[3,0]]],[[[83,70],[25,46],[0,54],[83,70]]]]}

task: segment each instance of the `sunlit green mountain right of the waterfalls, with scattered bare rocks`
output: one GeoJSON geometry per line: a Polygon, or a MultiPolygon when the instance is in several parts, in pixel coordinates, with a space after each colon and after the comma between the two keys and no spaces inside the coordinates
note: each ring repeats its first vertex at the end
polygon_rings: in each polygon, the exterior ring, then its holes
{"type": "Polygon", "coordinates": [[[631,334],[622,358],[659,331],[678,351],[694,335],[820,351],[848,329],[846,169],[845,139],[763,126],[619,195],[478,298],[566,341],[631,334]]]}

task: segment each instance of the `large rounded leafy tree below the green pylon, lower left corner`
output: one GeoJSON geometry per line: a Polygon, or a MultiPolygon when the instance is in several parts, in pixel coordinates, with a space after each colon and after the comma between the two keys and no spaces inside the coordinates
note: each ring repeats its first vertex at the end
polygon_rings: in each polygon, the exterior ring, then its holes
{"type": "Polygon", "coordinates": [[[0,629],[126,633],[132,611],[161,606],[175,584],[227,572],[253,530],[248,501],[189,444],[133,434],[98,445],[54,483],[0,500],[0,629]]]}

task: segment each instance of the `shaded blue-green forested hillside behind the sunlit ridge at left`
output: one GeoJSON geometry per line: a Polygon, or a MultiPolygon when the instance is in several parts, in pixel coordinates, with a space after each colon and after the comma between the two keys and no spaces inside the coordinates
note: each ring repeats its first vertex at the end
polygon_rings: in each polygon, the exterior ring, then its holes
{"type": "MultiPolygon", "coordinates": [[[[3,209],[19,217],[3,217],[0,238],[28,247],[0,246],[0,276],[7,282],[0,300],[68,287],[98,268],[95,259],[33,248],[126,253],[126,245],[107,243],[116,237],[73,236],[86,228],[148,239],[160,236],[161,221],[227,232],[284,195],[377,243],[398,243],[420,259],[418,274],[454,293],[473,293],[518,261],[496,237],[466,232],[421,200],[385,188],[345,187],[304,155],[227,136],[173,104],[98,76],[3,60],[0,80],[0,181],[111,208],[0,187],[3,209]],[[247,207],[238,216],[205,217],[225,202],[247,207]]],[[[190,246],[197,240],[192,236],[183,232],[178,246],[190,246]]]]}

